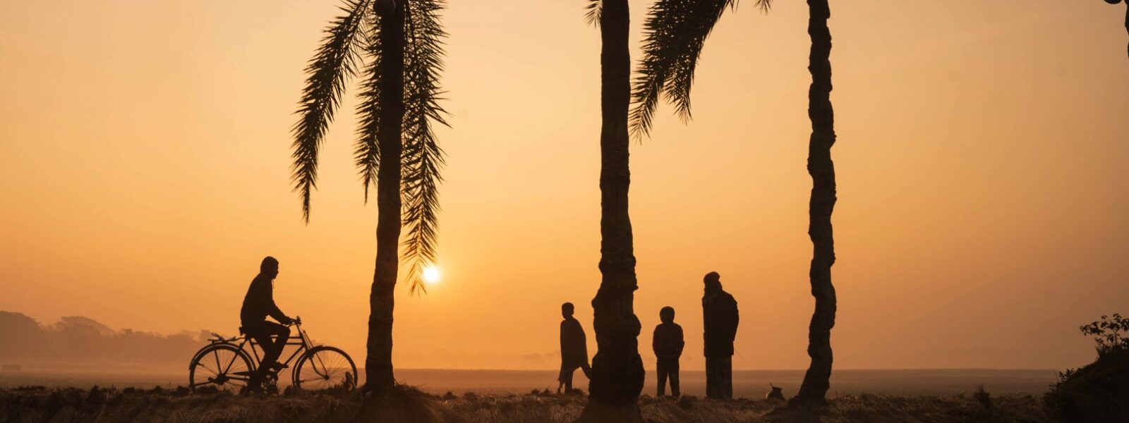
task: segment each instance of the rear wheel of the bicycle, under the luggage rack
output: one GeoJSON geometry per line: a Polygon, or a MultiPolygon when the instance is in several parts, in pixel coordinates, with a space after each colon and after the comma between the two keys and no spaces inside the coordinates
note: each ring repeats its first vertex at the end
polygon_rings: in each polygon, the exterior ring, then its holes
{"type": "Polygon", "coordinates": [[[189,389],[193,394],[240,394],[246,389],[254,370],[247,353],[235,345],[209,345],[200,350],[189,364],[189,389]]]}

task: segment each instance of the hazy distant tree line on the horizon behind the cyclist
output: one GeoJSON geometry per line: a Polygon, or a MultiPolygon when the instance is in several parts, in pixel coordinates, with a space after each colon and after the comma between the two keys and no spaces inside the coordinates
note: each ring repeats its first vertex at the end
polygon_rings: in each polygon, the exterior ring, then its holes
{"type": "Polygon", "coordinates": [[[0,311],[0,363],[181,363],[209,336],[208,331],[172,335],[114,331],[80,316],[63,317],[53,325],[44,325],[20,312],[0,311]]]}

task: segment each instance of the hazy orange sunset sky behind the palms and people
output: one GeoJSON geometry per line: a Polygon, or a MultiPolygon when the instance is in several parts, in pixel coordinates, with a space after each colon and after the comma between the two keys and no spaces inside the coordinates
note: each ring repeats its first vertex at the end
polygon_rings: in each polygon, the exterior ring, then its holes
{"type": "MultiPolygon", "coordinates": [[[[633,62],[650,3],[630,2],[633,62]]],[[[272,255],[282,310],[362,361],[376,206],[351,97],[309,224],[289,182],[303,69],[336,6],[0,2],[0,310],[233,334],[272,255]]],[[[397,367],[553,369],[564,301],[595,353],[599,34],[584,6],[444,12],[443,279],[397,287],[397,367]]],[[[832,2],[837,368],[1093,359],[1078,326],[1129,312],[1123,17],[1096,0],[832,2]]],[[[693,121],[663,105],[631,146],[648,368],[663,306],[683,368],[703,368],[710,271],[739,303],[735,369],[807,365],[806,24],[802,1],[727,12],[693,121]]]]}

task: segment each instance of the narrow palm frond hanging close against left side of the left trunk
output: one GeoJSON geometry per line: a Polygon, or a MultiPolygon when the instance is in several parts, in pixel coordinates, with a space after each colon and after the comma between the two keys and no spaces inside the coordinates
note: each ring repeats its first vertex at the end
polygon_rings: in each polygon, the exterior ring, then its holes
{"type": "Polygon", "coordinates": [[[376,173],[380,168],[380,146],[376,140],[380,125],[380,26],[377,19],[376,14],[369,14],[365,45],[368,68],[365,69],[366,79],[357,95],[358,124],[353,159],[360,169],[361,184],[365,185],[365,204],[368,204],[368,187],[376,185],[376,173]]]}

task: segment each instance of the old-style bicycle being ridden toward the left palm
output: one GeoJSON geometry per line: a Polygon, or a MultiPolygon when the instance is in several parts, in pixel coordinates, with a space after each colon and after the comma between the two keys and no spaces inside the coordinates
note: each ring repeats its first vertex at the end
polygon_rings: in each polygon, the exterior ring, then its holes
{"type": "MultiPolygon", "coordinates": [[[[291,337],[286,345],[298,347],[286,361],[280,361],[283,368],[289,368],[290,362],[297,359],[291,372],[294,389],[344,391],[356,389],[357,365],[349,354],[333,346],[315,346],[301,329],[301,317],[295,318],[294,326],[298,328],[298,336],[291,337]]],[[[212,336],[215,337],[208,338],[209,344],[196,351],[189,362],[189,389],[193,394],[211,389],[231,394],[245,393],[252,374],[261,364],[262,346],[256,349],[255,345],[259,343],[246,336],[243,327],[239,327],[239,336],[225,338],[217,333],[212,333],[212,336]],[[251,354],[247,354],[246,346],[250,346],[251,354]]],[[[273,338],[275,337],[272,336],[273,338]]],[[[268,371],[264,382],[277,388],[279,372],[281,370],[268,371]]]]}

